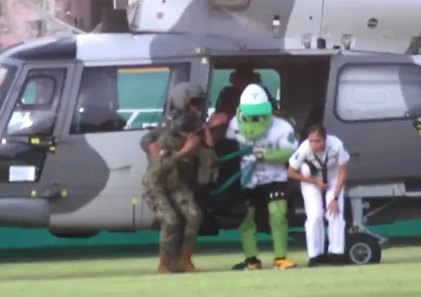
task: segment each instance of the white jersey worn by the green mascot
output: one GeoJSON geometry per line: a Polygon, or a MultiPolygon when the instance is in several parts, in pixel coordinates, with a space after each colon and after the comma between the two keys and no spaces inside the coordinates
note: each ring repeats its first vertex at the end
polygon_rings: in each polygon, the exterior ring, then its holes
{"type": "MultiPolygon", "coordinates": [[[[226,137],[228,139],[236,140],[240,146],[252,146],[252,148],[266,148],[266,149],[280,149],[298,147],[298,142],[294,138],[291,143],[291,136],[294,135],[293,127],[285,120],[273,118],[270,128],[261,138],[254,141],[245,139],[238,131],[238,121],[234,117],[229,122],[226,137]]],[[[245,155],[241,160],[242,177],[247,176],[247,168],[256,161],[253,154],[245,155]]],[[[255,188],[257,185],[264,185],[266,183],[273,183],[274,181],[287,181],[288,174],[284,164],[274,164],[268,162],[259,162],[257,167],[250,176],[246,188],[255,188]]]]}

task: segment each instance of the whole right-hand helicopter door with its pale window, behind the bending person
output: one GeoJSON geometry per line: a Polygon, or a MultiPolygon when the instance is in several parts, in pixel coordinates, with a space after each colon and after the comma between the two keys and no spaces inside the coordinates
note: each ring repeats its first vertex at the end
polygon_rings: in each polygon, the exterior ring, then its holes
{"type": "Polygon", "coordinates": [[[332,57],[324,121],[351,155],[350,183],[421,181],[420,63],[392,54],[332,57]]]}

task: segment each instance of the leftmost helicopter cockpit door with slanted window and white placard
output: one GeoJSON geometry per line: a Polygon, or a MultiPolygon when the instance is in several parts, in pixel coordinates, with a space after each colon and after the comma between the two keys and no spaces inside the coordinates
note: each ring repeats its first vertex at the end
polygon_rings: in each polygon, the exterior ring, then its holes
{"type": "Polygon", "coordinates": [[[74,71],[74,63],[28,63],[6,100],[0,116],[1,197],[14,202],[1,214],[1,224],[49,224],[47,199],[61,195],[59,188],[51,191],[51,183],[74,71]]]}

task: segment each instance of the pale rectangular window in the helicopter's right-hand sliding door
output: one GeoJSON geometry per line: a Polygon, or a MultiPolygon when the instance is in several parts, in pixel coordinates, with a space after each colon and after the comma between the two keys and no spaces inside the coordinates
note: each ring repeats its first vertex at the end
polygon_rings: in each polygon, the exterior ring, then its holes
{"type": "Polygon", "coordinates": [[[344,121],[421,115],[418,66],[348,66],[339,76],[337,114],[344,121]]]}

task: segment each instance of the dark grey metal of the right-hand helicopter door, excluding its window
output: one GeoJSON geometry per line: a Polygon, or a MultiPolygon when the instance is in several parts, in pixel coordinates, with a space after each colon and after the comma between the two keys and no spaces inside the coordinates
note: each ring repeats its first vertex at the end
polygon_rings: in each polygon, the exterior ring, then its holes
{"type": "MultiPolygon", "coordinates": [[[[399,182],[419,178],[421,137],[413,127],[413,116],[402,114],[402,118],[396,120],[357,122],[344,122],[337,116],[338,78],[342,69],[350,65],[416,64],[411,56],[397,54],[332,57],[324,121],[330,133],[341,138],[349,150],[349,182],[399,182]],[[405,153],[402,153],[403,150],[405,153]]],[[[415,79],[421,79],[421,68],[417,68],[412,75],[417,75],[413,77],[415,79]]],[[[400,86],[406,102],[411,102],[407,97],[415,94],[400,86]]]]}

